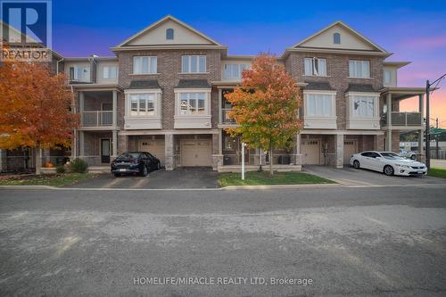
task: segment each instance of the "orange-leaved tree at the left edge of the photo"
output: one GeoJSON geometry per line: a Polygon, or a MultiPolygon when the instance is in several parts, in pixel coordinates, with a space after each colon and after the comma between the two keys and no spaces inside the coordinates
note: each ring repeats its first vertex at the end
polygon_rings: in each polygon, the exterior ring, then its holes
{"type": "Polygon", "coordinates": [[[78,116],[64,75],[42,63],[4,62],[0,67],[0,148],[37,149],[36,174],[43,148],[68,147],[78,116]]]}

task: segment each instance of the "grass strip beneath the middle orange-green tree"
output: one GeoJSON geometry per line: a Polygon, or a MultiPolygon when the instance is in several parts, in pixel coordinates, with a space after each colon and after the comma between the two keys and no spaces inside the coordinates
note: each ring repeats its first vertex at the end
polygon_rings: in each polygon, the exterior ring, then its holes
{"type": "Polygon", "coordinates": [[[334,181],[316,177],[303,172],[274,172],[269,177],[268,171],[246,172],[242,180],[241,173],[227,172],[219,174],[219,186],[265,186],[265,185],[303,185],[303,184],[335,184],[334,181]]]}

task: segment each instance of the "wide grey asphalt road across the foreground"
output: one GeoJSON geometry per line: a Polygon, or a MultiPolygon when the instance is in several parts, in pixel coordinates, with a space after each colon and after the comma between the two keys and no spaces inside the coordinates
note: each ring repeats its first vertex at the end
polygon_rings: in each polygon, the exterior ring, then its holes
{"type": "Polygon", "coordinates": [[[0,295],[444,296],[445,191],[0,190],[0,295]]]}

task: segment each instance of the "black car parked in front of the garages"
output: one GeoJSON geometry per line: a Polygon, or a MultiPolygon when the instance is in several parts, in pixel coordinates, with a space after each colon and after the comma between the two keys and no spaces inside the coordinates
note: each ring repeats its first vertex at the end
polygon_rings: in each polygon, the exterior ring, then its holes
{"type": "Polygon", "coordinates": [[[145,152],[121,153],[111,162],[111,173],[115,177],[124,174],[139,174],[145,177],[150,170],[160,169],[161,162],[153,154],[145,152]]]}

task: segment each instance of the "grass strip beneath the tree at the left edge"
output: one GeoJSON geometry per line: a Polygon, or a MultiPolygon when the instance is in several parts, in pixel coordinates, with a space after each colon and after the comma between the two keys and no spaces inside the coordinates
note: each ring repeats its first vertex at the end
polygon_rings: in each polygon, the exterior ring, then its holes
{"type": "Polygon", "coordinates": [[[91,173],[7,175],[0,177],[0,186],[68,186],[93,176],[91,173]]]}

